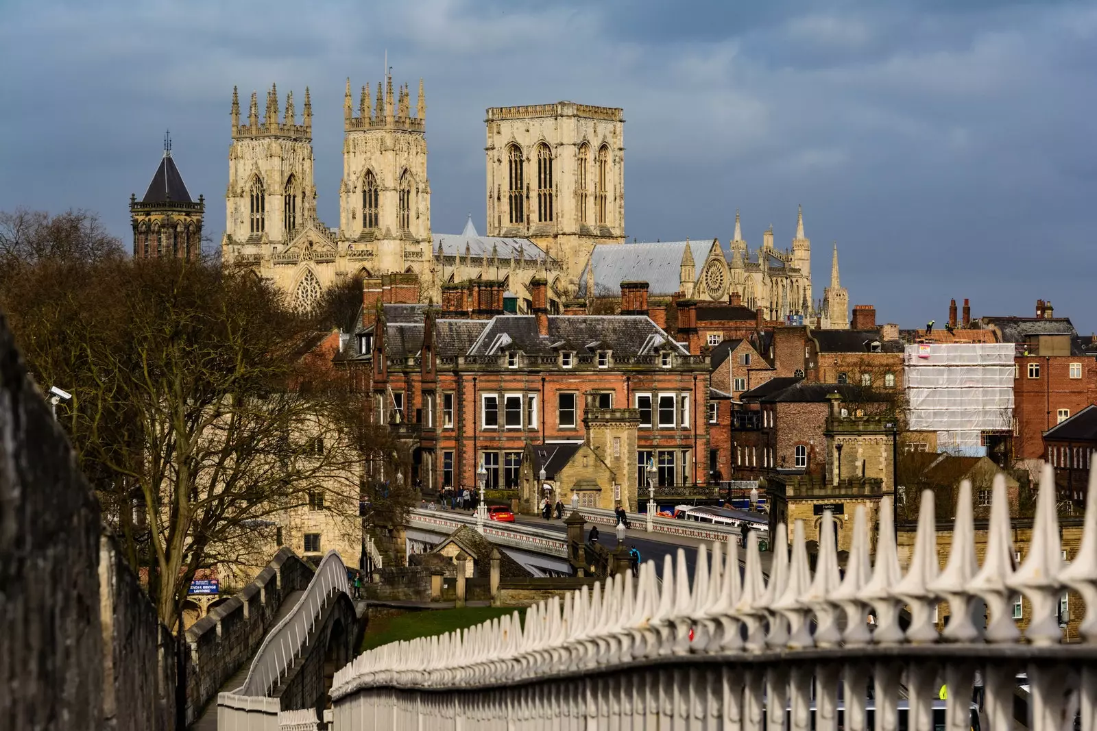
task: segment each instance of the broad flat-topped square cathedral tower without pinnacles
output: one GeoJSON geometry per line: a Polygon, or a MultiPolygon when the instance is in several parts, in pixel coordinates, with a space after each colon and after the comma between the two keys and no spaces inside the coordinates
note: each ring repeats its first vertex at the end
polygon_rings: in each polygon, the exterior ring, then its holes
{"type": "Polygon", "coordinates": [[[624,241],[623,110],[499,106],[485,122],[488,236],[532,239],[577,286],[596,243],[624,241]]]}

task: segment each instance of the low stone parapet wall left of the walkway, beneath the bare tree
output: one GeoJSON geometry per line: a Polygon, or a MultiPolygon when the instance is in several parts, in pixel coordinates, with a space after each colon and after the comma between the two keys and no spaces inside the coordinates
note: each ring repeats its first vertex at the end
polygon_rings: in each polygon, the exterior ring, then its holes
{"type": "Polygon", "coordinates": [[[313,568],[282,548],[255,581],[186,630],[186,722],[216,701],[220,686],[248,661],[290,593],[304,590],[313,568]]]}

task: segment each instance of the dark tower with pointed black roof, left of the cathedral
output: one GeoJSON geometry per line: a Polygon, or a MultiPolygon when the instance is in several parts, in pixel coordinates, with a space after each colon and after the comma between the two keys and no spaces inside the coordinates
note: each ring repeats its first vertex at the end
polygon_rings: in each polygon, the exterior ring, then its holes
{"type": "Polygon", "coordinates": [[[195,260],[202,249],[202,215],[205,198],[191,201],[183,176],[171,157],[171,137],[165,135],[163,158],[145,197],[129,196],[129,221],[134,229],[134,259],[174,256],[195,260]]]}

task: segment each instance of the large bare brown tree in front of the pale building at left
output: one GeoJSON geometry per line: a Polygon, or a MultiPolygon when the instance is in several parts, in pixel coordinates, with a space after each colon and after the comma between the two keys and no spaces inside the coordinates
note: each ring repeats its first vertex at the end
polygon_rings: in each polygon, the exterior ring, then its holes
{"type": "Polygon", "coordinates": [[[170,625],[197,570],[249,562],[267,526],[317,488],[360,525],[376,435],[325,355],[332,335],[271,285],[212,261],[99,256],[92,243],[20,254],[0,304],[38,381],[72,393],[58,418],[170,625]]]}

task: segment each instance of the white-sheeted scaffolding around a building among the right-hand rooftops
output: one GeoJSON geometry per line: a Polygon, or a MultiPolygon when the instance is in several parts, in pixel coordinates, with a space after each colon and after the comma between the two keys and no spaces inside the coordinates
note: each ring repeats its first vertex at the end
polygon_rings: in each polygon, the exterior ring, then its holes
{"type": "Polygon", "coordinates": [[[907,427],[938,452],[985,455],[983,435],[1011,429],[1013,343],[907,345],[904,365],[907,427]]]}

